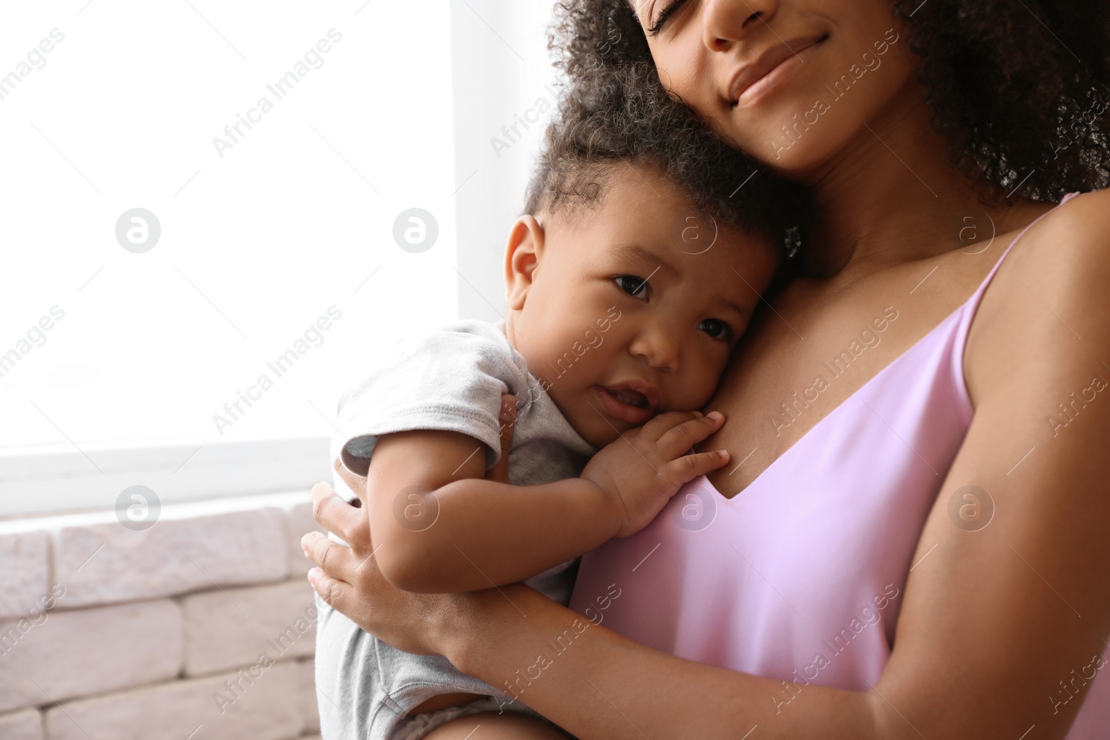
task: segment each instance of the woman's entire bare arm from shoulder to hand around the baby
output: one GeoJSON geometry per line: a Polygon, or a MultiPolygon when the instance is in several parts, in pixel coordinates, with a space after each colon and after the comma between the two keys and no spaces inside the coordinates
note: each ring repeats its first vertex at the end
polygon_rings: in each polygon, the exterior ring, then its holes
{"type": "MultiPolygon", "coordinates": [[[[1061,207],[1068,217],[1031,231],[996,278],[968,347],[975,419],[922,531],[890,661],[866,691],[810,685],[781,706],[771,698],[780,681],[583,628],[583,617],[519,585],[416,600],[336,559],[315,586],[402,649],[445,655],[502,688],[536,676],[517,685],[521,701],[582,740],[736,740],[753,729],[783,739],[1017,740],[1033,729],[1029,738],[1062,738],[1090,688],[1074,677],[1104,665],[1110,631],[1110,388],[1093,389],[1110,379],[1108,200],[1061,207]],[[995,505],[977,531],[949,516],[966,486],[995,505]],[[572,647],[541,668],[565,630],[572,647]]],[[[359,530],[316,494],[325,526],[359,530]]],[[[331,549],[312,535],[305,544],[316,562],[331,549]]]]}

